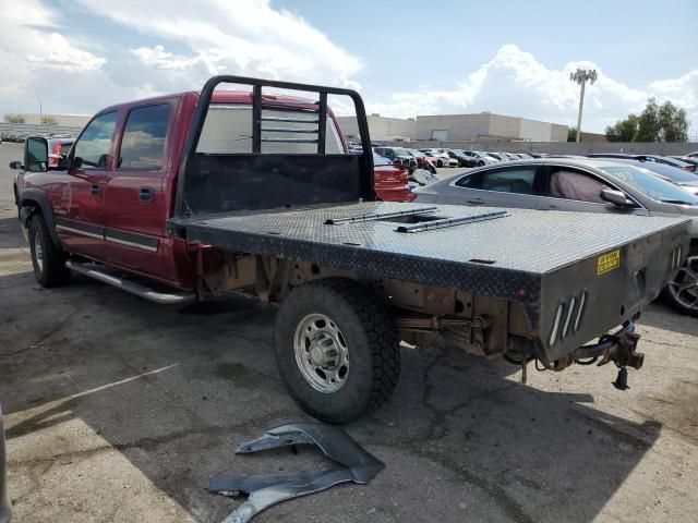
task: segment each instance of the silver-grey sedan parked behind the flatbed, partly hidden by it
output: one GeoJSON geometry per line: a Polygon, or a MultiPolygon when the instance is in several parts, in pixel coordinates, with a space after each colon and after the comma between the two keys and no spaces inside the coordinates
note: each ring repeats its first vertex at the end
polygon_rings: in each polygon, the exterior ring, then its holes
{"type": "Polygon", "coordinates": [[[416,202],[429,204],[690,217],[688,258],[663,295],[678,311],[698,316],[698,196],[641,163],[591,158],[510,161],[413,193],[416,202]]]}

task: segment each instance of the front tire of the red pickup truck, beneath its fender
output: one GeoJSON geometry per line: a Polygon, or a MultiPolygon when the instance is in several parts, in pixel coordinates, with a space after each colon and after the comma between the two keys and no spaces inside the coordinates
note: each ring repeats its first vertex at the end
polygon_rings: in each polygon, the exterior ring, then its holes
{"type": "Polygon", "coordinates": [[[51,288],[68,283],[70,280],[70,269],[65,267],[68,255],[51,240],[51,234],[41,215],[34,215],[29,221],[29,251],[34,277],[41,287],[51,288]],[[37,263],[37,241],[41,247],[41,264],[37,263]]]}

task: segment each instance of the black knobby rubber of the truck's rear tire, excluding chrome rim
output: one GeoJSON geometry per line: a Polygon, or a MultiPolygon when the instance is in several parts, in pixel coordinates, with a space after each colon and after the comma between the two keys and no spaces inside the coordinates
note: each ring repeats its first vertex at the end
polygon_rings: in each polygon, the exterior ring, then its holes
{"type": "Polygon", "coordinates": [[[284,384],[296,402],[324,422],[345,424],[378,409],[393,394],[400,373],[397,332],[383,302],[366,288],[345,278],[304,283],[281,302],[274,350],[284,384]],[[297,326],[311,314],[337,324],[350,354],[347,381],[337,391],[315,390],[296,361],[297,326]]]}

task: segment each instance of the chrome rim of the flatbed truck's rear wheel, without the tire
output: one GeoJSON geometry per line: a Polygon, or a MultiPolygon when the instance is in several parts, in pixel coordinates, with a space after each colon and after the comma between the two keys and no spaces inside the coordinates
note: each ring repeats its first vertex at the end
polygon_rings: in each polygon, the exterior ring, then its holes
{"type": "Polygon", "coordinates": [[[332,318],[309,314],[296,327],[296,364],[308,384],[318,392],[332,394],[349,377],[349,348],[332,318]]]}

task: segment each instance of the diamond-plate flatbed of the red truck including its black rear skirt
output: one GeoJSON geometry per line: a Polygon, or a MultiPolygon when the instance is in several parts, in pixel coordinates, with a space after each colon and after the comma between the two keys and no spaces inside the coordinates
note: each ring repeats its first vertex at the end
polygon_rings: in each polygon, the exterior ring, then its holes
{"type": "Polygon", "coordinates": [[[200,216],[172,226],[190,242],[229,253],[519,303],[537,350],[555,361],[657,296],[672,270],[667,250],[687,247],[688,221],[365,202],[200,216]],[[581,317],[551,343],[561,304],[558,323],[581,317]]]}

